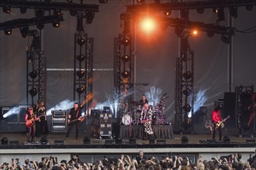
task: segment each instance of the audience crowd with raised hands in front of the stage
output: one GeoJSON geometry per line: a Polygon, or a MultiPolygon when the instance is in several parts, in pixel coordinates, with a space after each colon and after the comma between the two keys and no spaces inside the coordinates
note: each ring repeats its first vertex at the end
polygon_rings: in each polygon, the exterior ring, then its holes
{"type": "Polygon", "coordinates": [[[29,161],[26,159],[24,163],[19,162],[19,158],[12,159],[12,162],[5,162],[0,165],[0,169],[21,169],[21,170],[78,170],[78,169],[178,169],[178,170],[192,170],[192,169],[209,169],[209,170],[229,170],[229,169],[256,169],[256,150],[254,155],[248,155],[248,158],[242,158],[241,154],[232,154],[221,156],[220,158],[212,158],[212,160],[203,160],[202,155],[199,155],[196,162],[192,162],[188,157],[181,157],[178,155],[161,156],[161,158],[150,157],[144,155],[140,151],[136,157],[130,155],[121,155],[120,158],[102,158],[97,162],[88,163],[81,162],[78,155],[71,155],[71,160],[57,161],[56,157],[44,157],[40,162],[29,161]]]}

